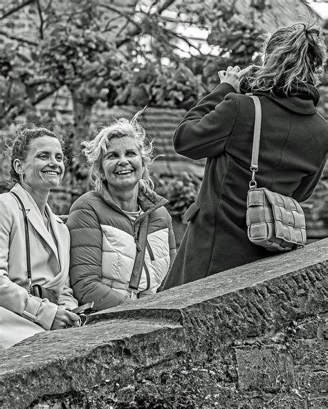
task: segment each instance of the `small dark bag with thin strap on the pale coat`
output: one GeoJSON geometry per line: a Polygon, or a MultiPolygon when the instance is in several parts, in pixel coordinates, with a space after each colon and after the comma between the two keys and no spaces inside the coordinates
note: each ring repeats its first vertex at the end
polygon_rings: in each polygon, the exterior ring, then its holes
{"type": "Polygon", "coordinates": [[[26,245],[26,265],[27,265],[27,274],[28,274],[28,294],[32,296],[37,296],[39,298],[48,298],[51,303],[57,304],[57,298],[50,289],[43,287],[42,285],[35,284],[32,285],[32,272],[30,269],[30,236],[28,234],[28,221],[26,216],[26,210],[21,201],[21,198],[15,193],[10,192],[12,195],[17,198],[19,204],[21,205],[21,211],[23,212],[24,217],[24,227],[25,227],[25,245],[26,245]]]}

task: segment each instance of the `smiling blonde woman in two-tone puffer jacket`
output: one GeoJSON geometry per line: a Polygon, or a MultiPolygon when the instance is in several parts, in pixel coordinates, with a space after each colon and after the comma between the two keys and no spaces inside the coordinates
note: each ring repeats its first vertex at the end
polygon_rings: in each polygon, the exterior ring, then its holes
{"type": "Polygon", "coordinates": [[[93,301],[96,311],[156,293],[176,253],[167,200],[149,178],[152,144],[137,118],[120,118],[83,144],[95,189],[71,207],[70,276],[79,303],[93,301]]]}

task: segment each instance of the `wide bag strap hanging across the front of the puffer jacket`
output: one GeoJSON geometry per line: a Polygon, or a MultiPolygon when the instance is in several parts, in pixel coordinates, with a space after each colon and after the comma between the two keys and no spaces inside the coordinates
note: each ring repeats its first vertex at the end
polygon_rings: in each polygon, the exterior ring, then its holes
{"type": "Polygon", "coordinates": [[[131,278],[127,290],[131,292],[131,298],[135,292],[138,292],[141,273],[143,272],[143,261],[145,258],[147,232],[149,216],[146,215],[140,223],[138,237],[134,237],[136,242],[136,258],[134,259],[134,268],[132,269],[131,278]]]}

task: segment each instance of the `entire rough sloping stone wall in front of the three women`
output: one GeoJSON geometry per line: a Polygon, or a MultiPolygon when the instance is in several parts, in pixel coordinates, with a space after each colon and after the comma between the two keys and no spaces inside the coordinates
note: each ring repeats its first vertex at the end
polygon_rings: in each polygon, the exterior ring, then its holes
{"type": "Polygon", "coordinates": [[[325,408],[327,259],[320,240],[37,334],[1,356],[0,406],[325,408]]]}

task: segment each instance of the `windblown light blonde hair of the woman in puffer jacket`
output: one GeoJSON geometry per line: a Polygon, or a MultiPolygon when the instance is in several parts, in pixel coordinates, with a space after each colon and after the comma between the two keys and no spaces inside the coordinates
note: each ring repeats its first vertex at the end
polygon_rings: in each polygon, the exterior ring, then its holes
{"type": "Polygon", "coordinates": [[[92,140],[81,143],[83,147],[82,152],[90,166],[89,177],[95,185],[95,191],[98,193],[102,189],[102,182],[104,180],[102,156],[111,146],[111,139],[113,137],[123,136],[132,137],[136,141],[144,167],[141,181],[151,189],[154,188],[154,183],[149,175],[149,167],[153,162],[153,142],[147,139],[145,129],[138,122],[138,117],[143,111],[138,111],[131,120],[123,117],[113,120],[109,126],[100,128],[100,131],[92,140]]]}

